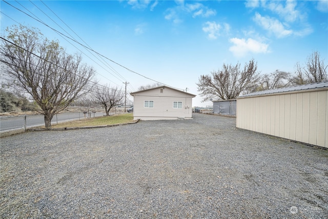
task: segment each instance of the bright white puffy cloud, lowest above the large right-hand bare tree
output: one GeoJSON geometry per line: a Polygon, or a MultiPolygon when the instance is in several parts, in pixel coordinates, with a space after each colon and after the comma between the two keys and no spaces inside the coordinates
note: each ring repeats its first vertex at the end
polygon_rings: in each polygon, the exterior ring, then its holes
{"type": "Polygon", "coordinates": [[[256,41],[255,39],[248,38],[247,40],[244,38],[231,38],[229,39],[231,43],[234,45],[229,48],[229,50],[236,57],[242,57],[247,55],[248,53],[268,53],[270,52],[268,44],[264,44],[256,41]]]}

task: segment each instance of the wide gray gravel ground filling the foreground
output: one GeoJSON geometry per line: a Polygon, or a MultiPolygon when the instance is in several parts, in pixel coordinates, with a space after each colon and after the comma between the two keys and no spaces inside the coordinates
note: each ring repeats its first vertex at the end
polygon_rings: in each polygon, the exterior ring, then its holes
{"type": "Polygon", "coordinates": [[[235,118],[1,138],[2,218],[328,218],[328,151],[235,118]]]}

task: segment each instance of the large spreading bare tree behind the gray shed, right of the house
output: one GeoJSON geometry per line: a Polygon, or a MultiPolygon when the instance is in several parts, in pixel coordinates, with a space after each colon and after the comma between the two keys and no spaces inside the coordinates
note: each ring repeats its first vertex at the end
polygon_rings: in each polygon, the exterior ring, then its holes
{"type": "Polygon", "coordinates": [[[251,59],[249,63],[245,63],[243,69],[240,64],[236,66],[223,64],[222,70],[211,72],[212,75],[201,75],[199,78],[197,90],[203,101],[211,98],[233,99],[250,84],[254,84],[258,74],[257,63],[251,59]]]}

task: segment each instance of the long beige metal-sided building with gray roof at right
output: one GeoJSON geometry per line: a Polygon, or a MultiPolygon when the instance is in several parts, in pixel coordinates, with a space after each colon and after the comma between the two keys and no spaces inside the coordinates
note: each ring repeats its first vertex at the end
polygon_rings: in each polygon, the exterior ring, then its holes
{"type": "Polygon", "coordinates": [[[236,127],[328,148],[328,82],[237,98],[236,127]]]}

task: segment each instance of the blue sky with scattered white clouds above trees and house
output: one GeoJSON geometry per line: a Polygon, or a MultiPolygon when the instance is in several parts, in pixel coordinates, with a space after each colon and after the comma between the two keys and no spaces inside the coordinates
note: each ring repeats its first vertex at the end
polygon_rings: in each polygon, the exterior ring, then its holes
{"type": "Polygon", "coordinates": [[[328,64],[328,1],[6,2],[138,74],[95,57],[4,1],[2,35],[17,23],[37,27],[68,53],[81,53],[100,84],[124,89],[127,81],[128,92],[154,81],[188,88],[197,95],[193,106],[211,104],[201,103],[196,83],[223,63],[254,58],[262,74],[294,72],[297,62],[319,51],[328,64]]]}

